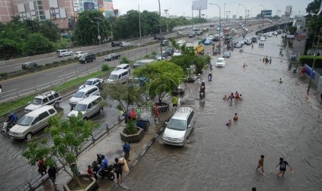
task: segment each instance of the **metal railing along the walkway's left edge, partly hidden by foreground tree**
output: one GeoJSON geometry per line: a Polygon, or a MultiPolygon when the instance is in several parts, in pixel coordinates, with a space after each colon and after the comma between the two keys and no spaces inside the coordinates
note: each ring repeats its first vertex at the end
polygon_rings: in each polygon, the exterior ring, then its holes
{"type": "MultiPolygon", "coordinates": [[[[114,127],[116,127],[120,121],[122,120],[119,120],[118,116],[114,116],[113,118],[111,118],[111,120],[109,120],[105,124],[100,125],[98,129],[95,129],[93,131],[91,138],[89,138],[87,141],[84,142],[80,153],[84,152],[84,150],[87,149],[89,146],[91,146],[93,143],[95,143],[96,140],[100,139],[105,134],[108,134],[109,131],[114,127]]],[[[62,164],[60,163],[57,164],[57,171],[59,171],[61,168],[62,168],[62,164]]],[[[18,188],[15,188],[14,190],[17,190],[17,191],[35,190],[35,188],[38,188],[39,186],[41,186],[42,183],[44,183],[44,181],[48,179],[48,176],[46,177],[45,176],[41,176],[40,174],[37,174],[36,176],[33,176],[33,178],[31,178],[30,180],[25,181],[22,185],[20,185],[18,188]]]]}

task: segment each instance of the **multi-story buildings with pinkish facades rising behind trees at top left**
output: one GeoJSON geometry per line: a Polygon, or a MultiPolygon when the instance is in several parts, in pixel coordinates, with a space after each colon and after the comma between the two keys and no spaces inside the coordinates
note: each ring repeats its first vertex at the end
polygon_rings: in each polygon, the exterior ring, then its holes
{"type": "Polygon", "coordinates": [[[113,17],[112,0],[1,0],[0,21],[6,23],[19,15],[21,20],[52,19],[59,28],[69,28],[84,10],[100,10],[105,17],[113,17]]]}

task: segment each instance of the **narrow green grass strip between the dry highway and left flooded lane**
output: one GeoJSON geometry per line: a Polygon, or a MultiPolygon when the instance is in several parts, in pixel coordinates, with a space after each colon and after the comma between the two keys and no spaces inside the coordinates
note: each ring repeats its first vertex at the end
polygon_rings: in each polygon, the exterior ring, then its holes
{"type": "MultiPolygon", "coordinates": [[[[111,69],[109,71],[111,71],[111,69]]],[[[69,82],[59,84],[59,85],[52,87],[50,89],[47,89],[47,90],[58,91],[60,94],[62,94],[62,93],[69,91],[71,89],[75,89],[75,87],[80,86],[82,84],[82,82],[86,81],[89,78],[100,78],[104,75],[107,75],[107,71],[96,71],[96,72],[91,73],[89,75],[85,75],[83,77],[76,78],[76,79],[71,80],[69,82]]],[[[46,91],[46,90],[44,90],[44,91],[46,91]]],[[[44,92],[44,91],[42,91],[42,92],[44,92]]],[[[35,93],[33,95],[26,96],[26,97],[21,97],[17,100],[11,101],[11,102],[1,103],[0,104],[1,117],[8,116],[8,113],[10,113],[11,111],[15,111],[15,113],[17,113],[18,111],[21,111],[21,109],[24,109],[24,107],[26,107],[28,102],[32,101],[33,98],[35,96],[37,96],[39,93],[35,93]]]]}

